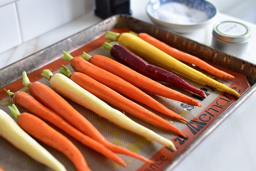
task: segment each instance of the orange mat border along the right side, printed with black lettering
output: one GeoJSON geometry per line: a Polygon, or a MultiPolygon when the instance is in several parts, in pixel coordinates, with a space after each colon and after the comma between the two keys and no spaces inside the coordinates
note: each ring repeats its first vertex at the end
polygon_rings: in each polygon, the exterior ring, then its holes
{"type": "MultiPolygon", "coordinates": [[[[229,86],[235,89],[242,95],[251,86],[245,75],[215,66],[229,74],[235,76],[233,83],[229,86]]],[[[222,92],[211,104],[209,104],[201,113],[199,113],[193,120],[190,120],[185,128],[181,131],[187,136],[186,139],[180,136],[174,136],[171,140],[177,147],[177,151],[170,148],[163,147],[150,159],[155,160],[156,164],[143,164],[137,171],[161,171],[170,162],[188,148],[192,143],[209,125],[212,124],[225,110],[228,109],[236,101],[236,97],[222,92]]]]}

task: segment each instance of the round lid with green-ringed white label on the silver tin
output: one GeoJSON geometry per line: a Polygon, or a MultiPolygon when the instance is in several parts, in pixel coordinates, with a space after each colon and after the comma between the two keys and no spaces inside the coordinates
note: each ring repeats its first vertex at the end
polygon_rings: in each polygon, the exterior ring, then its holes
{"type": "Polygon", "coordinates": [[[212,35],[229,43],[242,43],[249,40],[250,28],[236,21],[222,21],[214,25],[212,35]]]}

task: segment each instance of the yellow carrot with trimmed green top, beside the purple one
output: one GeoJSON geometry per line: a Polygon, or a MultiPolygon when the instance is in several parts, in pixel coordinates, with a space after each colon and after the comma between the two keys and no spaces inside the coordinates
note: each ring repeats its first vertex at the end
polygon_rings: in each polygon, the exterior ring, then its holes
{"type": "Polygon", "coordinates": [[[122,33],[120,35],[115,35],[116,33],[108,32],[105,36],[106,39],[117,41],[119,44],[125,46],[127,49],[135,53],[136,55],[163,67],[164,69],[170,70],[172,72],[178,73],[187,77],[198,83],[209,85],[221,91],[227,92],[236,98],[240,97],[240,94],[234,89],[206,76],[205,74],[187,66],[186,64],[180,62],[179,60],[173,58],[167,53],[159,50],[155,46],[149,44],[148,42],[142,40],[140,37],[133,35],[131,33],[122,33]],[[112,36],[115,35],[115,36],[112,36]],[[112,39],[113,37],[113,39],[112,39]],[[118,40],[116,40],[118,37],[118,40]]]}

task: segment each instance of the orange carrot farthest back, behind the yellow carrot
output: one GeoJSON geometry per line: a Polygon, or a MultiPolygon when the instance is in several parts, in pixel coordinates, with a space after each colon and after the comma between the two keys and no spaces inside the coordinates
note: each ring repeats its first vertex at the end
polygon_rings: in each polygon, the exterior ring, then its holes
{"type": "Polygon", "coordinates": [[[164,42],[161,42],[160,40],[156,39],[155,37],[148,35],[147,33],[139,33],[138,36],[143,39],[144,41],[152,44],[156,48],[160,49],[161,51],[164,51],[165,53],[171,55],[173,58],[176,58],[180,61],[187,62],[189,64],[195,64],[196,66],[204,69],[205,71],[216,75],[220,78],[225,79],[234,79],[235,77],[233,75],[230,75],[224,71],[221,71],[212,65],[208,64],[207,62],[203,61],[200,58],[197,58],[193,55],[190,55],[188,53],[185,53],[183,51],[179,51],[164,42]]]}

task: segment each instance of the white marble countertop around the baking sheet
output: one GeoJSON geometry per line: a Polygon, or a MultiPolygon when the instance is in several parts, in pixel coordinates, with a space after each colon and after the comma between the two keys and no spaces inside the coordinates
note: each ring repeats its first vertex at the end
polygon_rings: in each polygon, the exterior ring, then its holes
{"type": "MultiPolygon", "coordinates": [[[[148,18],[145,6],[148,0],[131,1],[132,16],[134,18],[152,23],[148,18]]],[[[219,13],[212,24],[194,33],[182,34],[206,45],[211,44],[212,27],[217,21],[240,21],[251,28],[251,40],[244,59],[256,64],[253,53],[256,44],[256,25],[219,13]]],[[[11,50],[0,54],[0,68],[7,66],[21,58],[39,51],[53,43],[56,43],[76,32],[83,30],[101,21],[93,13],[87,14],[51,32],[41,35],[11,50]]],[[[196,171],[226,171],[226,170],[256,170],[256,142],[253,136],[256,130],[256,114],[253,113],[253,105],[256,101],[256,93],[249,97],[228,119],[216,128],[204,141],[199,144],[188,156],[183,159],[173,170],[196,171]],[[249,119],[248,119],[249,118],[249,119]]]]}

